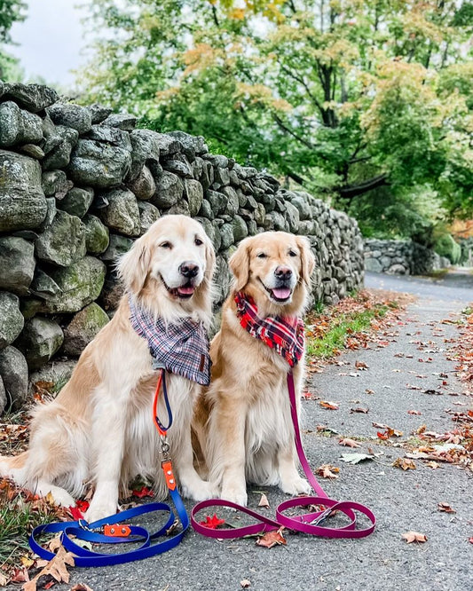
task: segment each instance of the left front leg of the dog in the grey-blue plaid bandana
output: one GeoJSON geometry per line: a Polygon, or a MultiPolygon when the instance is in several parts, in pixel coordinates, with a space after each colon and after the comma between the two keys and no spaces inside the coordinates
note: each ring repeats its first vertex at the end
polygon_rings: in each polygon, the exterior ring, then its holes
{"type": "MultiPolygon", "coordinates": [[[[119,398],[117,396],[117,398],[119,398]]],[[[122,471],[126,408],[109,393],[99,392],[92,422],[95,465],[92,480],[95,493],[86,518],[89,522],[114,515],[118,507],[118,487],[122,471]]]]}

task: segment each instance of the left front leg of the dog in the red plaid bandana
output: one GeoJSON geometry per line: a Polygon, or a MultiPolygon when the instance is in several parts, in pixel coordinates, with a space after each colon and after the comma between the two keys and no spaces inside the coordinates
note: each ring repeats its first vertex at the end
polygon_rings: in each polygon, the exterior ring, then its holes
{"type": "MultiPolygon", "coordinates": [[[[246,507],[245,423],[247,408],[243,397],[222,396],[215,411],[215,430],[210,426],[215,466],[222,469],[222,499],[246,507]],[[216,438],[217,436],[217,438],[216,438]]],[[[220,471],[220,470],[219,470],[220,471]]]]}

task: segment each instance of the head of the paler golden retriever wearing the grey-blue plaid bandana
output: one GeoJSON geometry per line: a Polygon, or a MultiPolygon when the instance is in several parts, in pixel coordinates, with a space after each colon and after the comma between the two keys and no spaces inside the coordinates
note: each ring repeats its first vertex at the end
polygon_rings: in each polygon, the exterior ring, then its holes
{"type": "Polygon", "coordinates": [[[135,241],[118,268],[135,296],[153,284],[156,296],[185,303],[209,288],[214,266],[214,250],[201,224],[191,217],[165,216],[135,241]]]}

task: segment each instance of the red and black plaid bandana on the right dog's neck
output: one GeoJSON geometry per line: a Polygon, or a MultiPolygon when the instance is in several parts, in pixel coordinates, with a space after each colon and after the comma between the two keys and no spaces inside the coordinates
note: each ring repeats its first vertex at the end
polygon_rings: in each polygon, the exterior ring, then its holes
{"type": "Polygon", "coordinates": [[[289,366],[296,366],[304,353],[303,319],[289,316],[261,318],[255,301],[241,292],[236,294],[235,303],[240,325],[286,359],[289,366]]]}

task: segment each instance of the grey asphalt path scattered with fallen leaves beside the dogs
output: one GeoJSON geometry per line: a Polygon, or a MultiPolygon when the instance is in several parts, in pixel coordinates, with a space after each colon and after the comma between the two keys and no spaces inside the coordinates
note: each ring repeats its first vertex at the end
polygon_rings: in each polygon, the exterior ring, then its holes
{"type": "MultiPolygon", "coordinates": [[[[321,485],[333,498],[357,500],[372,508],[377,517],[372,535],[326,540],[289,533],[287,546],[266,549],[256,547],[252,539],[217,541],[189,532],[179,547],[163,556],[101,569],[73,569],[70,584],[54,588],[60,591],[85,583],[94,591],[238,591],[240,581],[248,579],[255,591],[470,591],[473,474],[446,464],[430,469],[421,461],[415,461],[416,469],[393,468],[392,462],[403,457],[404,450],[383,445],[376,437],[380,429],[372,422],[401,430],[399,439],[406,440],[422,424],[438,433],[452,430],[455,424],[445,411],[471,408],[472,399],[457,381],[453,361],[447,359],[450,344],[445,340],[453,339],[458,328],[442,320],[455,319],[473,300],[473,276],[433,281],[368,274],[367,286],[419,297],[380,343],[343,353],[343,366],[327,366],[322,374],[311,376],[309,390],[339,404],[338,410],[324,410],[316,399],[303,404],[304,447],[311,466],[328,463],[340,469],[338,478],[323,479],[321,485]],[[363,361],[367,369],[357,369],[356,361],[363,361]],[[413,385],[420,390],[411,389],[413,385]],[[424,390],[438,390],[440,395],[424,390]],[[369,410],[353,413],[353,407],[369,410]],[[413,409],[422,414],[407,413],[413,409]],[[321,436],[319,424],[335,429],[339,436],[321,436]],[[340,437],[353,436],[363,438],[360,449],[339,445],[340,437]],[[340,461],[342,453],[368,449],[382,455],[356,465],[340,461]],[[456,513],[439,512],[439,502],[448,503],[456,513]],[[424,533],[427,542],[407,544],[401,535],[408,531],[424,533]]],[[[272,508],[285,498],[272,487],[264,492],[272,508]]],[[[251,507],[256,508],[259,499],[259,493],[249,493],[251,507]]],[[[262,510],[272,515],[272,508],[262,510]]],[[[234,515],[228,519],[237,523],[234,515]]]]}

